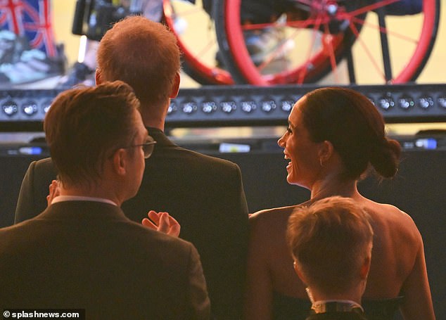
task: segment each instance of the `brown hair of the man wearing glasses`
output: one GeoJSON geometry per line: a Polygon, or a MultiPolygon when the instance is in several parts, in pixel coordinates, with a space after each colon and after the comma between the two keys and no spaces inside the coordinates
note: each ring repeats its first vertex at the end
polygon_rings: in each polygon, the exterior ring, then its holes
{"type": "Polygon", "coordinates": [[[138,108],[132,88],[120,81],[59,94],[44,120],[58,179],[71,186],[97,181],[113,148],[132,143],[138,108]]]}

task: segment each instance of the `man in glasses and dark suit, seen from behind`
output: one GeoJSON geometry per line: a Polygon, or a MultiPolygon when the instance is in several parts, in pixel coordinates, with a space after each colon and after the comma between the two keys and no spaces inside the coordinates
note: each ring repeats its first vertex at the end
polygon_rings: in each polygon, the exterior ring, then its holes
{"type": "Polygon", "coordinates": [[[125,217],[155,142],[124,82],[71,89],[44,130],[60,195],[0,229],[0,309],[79,308],[83,319],[209,319],[196,248],[125,217]]]}

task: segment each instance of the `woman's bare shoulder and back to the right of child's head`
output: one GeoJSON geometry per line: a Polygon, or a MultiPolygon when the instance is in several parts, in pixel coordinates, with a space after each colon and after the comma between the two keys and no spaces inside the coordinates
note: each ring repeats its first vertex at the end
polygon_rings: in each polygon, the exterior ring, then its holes
{"type": "Polygon", "coordinates": [[[423,240],[414,221],[393,205],[365,198],[361,203],[375,233],[364,299],[402,295],[404,319],[435,319],[423,240]]]}

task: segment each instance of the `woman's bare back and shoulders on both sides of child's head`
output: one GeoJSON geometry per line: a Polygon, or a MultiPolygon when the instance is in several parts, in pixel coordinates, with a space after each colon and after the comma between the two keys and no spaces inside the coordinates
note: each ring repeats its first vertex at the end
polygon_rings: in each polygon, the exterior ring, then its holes
{"type": "MultiPolygon", "coordinates": [[[[392,205],[375,203],[359,194],[353,198],[369,212],[375,233],[364,300],[383,300],[404,295],[402,309],[406,319],[433,319],[433,315],[426,318],[426,314],[416,316],[416,306],[421,303],[420,299],[430,296],[430,290],[423,243],[412,218],[392,205]]],[[[310,205],[310,202],[302,205],[310,205]]],[[[260,299],[259,303],[272,301],[271,305],[260,307],[260,310],[265,308],[265,314],[269,314],[268,309],[274,310],[280,305],[277,301],[281,300],[274,299],[274,295],[308,299],[304,283],[295,275],[293,258],[286,243],[288,217],[294,208],[262,210],[250,217],[248,274],[253,273],[249,276],[253,280],[248,283],[248,297],[260,299]]],[[[423,303],[431,302],[426,300],[423,303]]],[[[250,305],[257,304],[253,301],[250,305]]],[[[257,312],[260,310],[257,309],[257,312]]]]}

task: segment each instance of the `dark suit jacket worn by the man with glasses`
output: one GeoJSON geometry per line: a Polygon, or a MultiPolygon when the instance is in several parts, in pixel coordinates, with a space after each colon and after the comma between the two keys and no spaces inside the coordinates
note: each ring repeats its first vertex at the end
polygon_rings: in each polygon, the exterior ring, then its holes
{"type": "Polygon", "coordinates": [[[198,252],[106,203],[54,203],[0,229],[0,309],[85,309],[86,319],[208,319],[198,252]]]}

